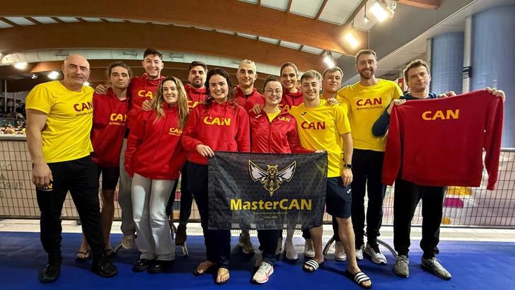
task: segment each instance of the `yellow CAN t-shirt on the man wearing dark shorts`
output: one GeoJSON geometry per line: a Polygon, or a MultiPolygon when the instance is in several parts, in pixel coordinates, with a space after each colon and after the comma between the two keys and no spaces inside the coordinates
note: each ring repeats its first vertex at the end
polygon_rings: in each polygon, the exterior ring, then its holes
{"type": "Polygon", "coordinates": [[[297,121],[299,139],[306,149],[328,151],[328,178],[341,175],[343,169],[342,134],[350,132],[349,119],[341,105],[329,107],[325,100],[320,105],[307,108],[301,104],[289,113],[297,121]]]}

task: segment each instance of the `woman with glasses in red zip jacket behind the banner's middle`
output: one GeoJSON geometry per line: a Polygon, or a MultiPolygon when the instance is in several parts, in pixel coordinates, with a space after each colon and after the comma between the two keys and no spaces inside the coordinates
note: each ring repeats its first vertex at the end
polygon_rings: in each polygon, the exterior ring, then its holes
{"type": "MultiPolygon", "coordinates": [[[[300,145],[297,124],[286,108],[279,109],[283,95],[282,84],[276,76],[265,80],[265,107],[255,114],[250,112],[251,152],[256,153],[311,153],[300,145]]],[[[274,272],[275,251],[282,230],[258,230],[262,248],[262,262],[253,281],[265,283],[274,272]]]]}

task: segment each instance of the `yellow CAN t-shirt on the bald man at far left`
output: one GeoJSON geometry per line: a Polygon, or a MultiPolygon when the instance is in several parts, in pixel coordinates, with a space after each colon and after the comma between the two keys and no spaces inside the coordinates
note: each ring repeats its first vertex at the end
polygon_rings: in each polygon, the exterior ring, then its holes
{"type": "Polygon", "coordinates": [[[26,109],[47,114],[41,136],[47,163],[71,161],[93,151],[90,133],[93,123],[93,88],[70,91],[59,81],[35,86],[27,95],[26,109]]]}

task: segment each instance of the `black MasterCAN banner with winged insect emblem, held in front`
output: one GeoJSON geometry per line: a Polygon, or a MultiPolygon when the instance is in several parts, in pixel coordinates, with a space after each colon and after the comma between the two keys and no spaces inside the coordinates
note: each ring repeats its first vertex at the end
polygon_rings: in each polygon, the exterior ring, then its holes
{"type": "Polygon", "coordinates": [[[209,229],[322,225],[327,153],[215,152],[208,172],[209,229]]]}

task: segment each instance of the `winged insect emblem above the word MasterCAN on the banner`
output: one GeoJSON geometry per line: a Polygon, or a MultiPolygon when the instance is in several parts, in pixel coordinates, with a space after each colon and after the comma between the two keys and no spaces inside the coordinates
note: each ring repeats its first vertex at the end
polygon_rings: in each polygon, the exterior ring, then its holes
{"type": "Polygon", "coordinates": [[[277,165],[267,165],[267,170],[263,170],[259,166],[255,165],[252,161],[248,161],[248,172],[250,177],[254,181],[260,181],[265,187],[265,190],[270,192],[270,196],[274,195],[274,192],[279,189],[281,183],[284,181],[290,181],[294,177],[296,168],[296,161],[292,162],[289,166],[279,171],[277,165]]]}

